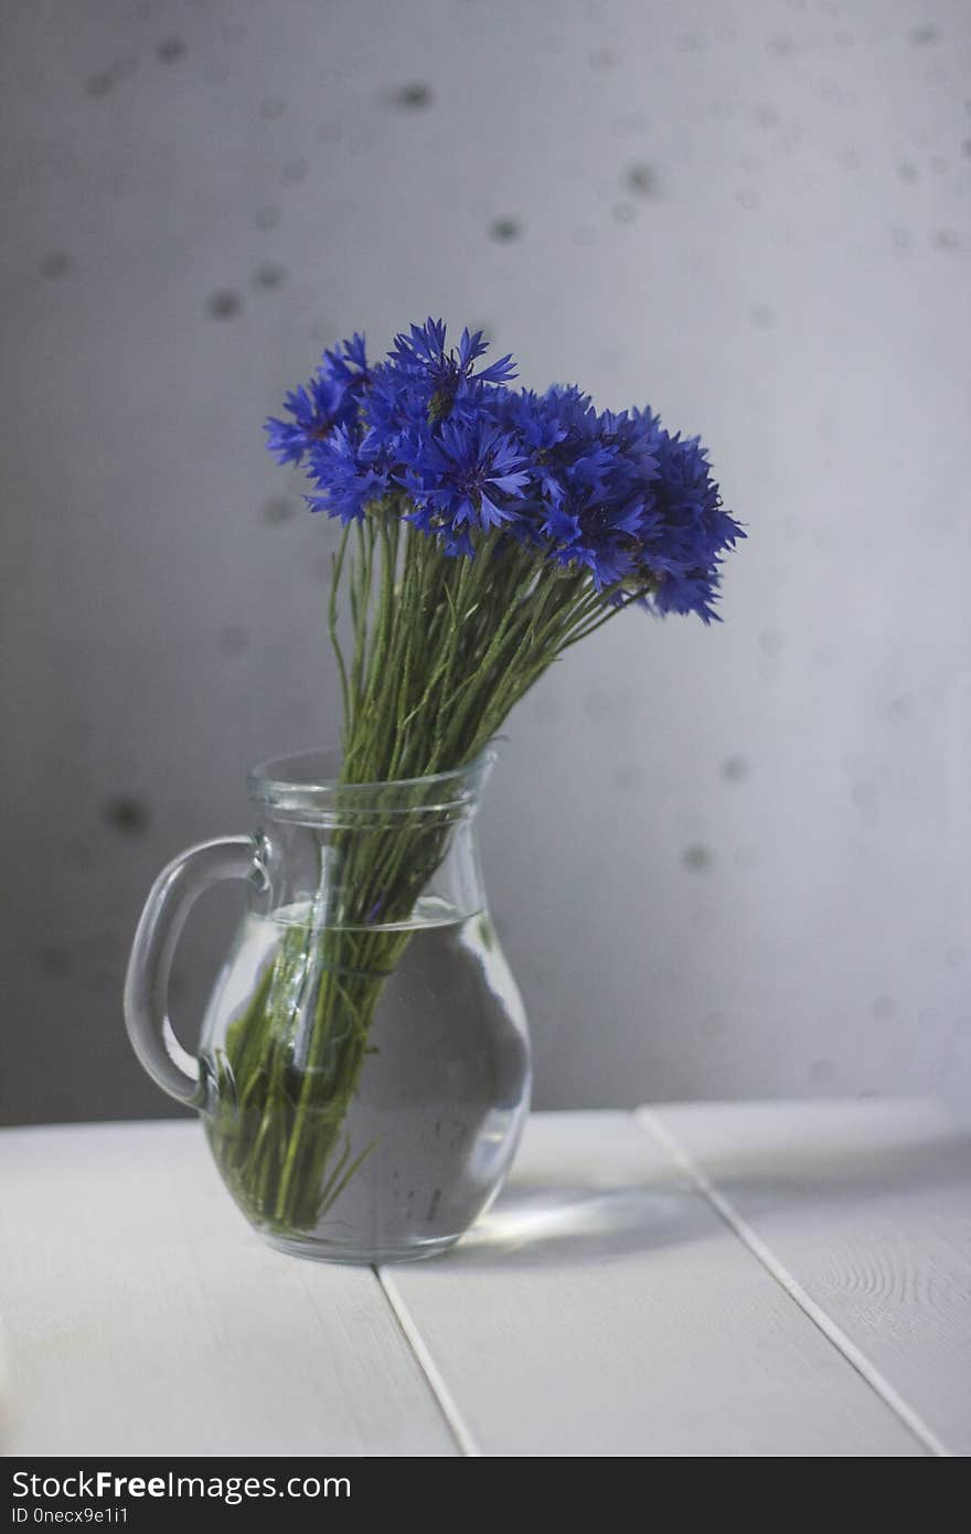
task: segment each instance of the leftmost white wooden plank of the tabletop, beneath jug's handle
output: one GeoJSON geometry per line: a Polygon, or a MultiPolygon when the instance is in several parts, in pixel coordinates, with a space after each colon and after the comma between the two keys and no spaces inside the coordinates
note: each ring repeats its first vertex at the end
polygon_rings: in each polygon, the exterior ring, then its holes
{"type": "Polygon", "coordinates": [[[454,1454],[370,1269],[272,1252],[198,1124],[0,1134],[6,1454],[454,1454]]]}

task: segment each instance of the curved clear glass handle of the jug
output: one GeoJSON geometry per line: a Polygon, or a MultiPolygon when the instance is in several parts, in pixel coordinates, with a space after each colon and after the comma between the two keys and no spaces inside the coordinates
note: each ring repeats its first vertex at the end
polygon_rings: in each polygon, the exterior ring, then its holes
{"type": "Polygon", "coordinates": [[[163,868],[149,890],[124,980],[124,1023],[135,1054],[163,1091],[189,1104],[198,1101],[199,1062],[183,1048],[169,1022],[169,973],[193,902],[221,879],[265,887],[252,836],[201,842],[163,868]]]}

